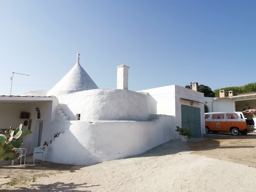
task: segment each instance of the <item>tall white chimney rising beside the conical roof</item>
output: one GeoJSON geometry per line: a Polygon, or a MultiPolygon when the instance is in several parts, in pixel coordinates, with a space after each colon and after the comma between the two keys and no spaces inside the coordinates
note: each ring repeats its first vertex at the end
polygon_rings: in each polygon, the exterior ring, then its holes
{"type": "Polygon", "coordinates": [[[116,89],[126,89],[128,90],[128,66],[121,65],[117,66],[117,86],[116,89]]]}

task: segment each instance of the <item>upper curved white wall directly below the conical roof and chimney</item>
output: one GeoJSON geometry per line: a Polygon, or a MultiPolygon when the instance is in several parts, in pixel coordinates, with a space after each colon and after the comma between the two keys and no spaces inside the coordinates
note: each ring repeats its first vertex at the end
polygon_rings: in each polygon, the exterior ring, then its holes
{"type": "Polygon", "coordinates": [[[81,114],[81,121],[147,121],[150,114],[148,95],[129,90],[94,89],[57,98],[70,120],[81,114]]]}

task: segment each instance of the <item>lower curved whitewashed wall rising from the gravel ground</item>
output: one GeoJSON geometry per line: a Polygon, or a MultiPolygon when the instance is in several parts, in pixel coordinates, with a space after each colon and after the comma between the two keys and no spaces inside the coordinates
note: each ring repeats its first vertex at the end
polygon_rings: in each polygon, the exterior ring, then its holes
{"type": "Polygon", "coordinates": [[[57,163],[92,165],[138,155],[174,139],[178,133],[171,129],[172,121],[173,117],[162,115],[158,122],[66,121],[66,127],[63,122],[55,123],[55,130],[66,130],[49,145],[45,159],[57,163]]]}

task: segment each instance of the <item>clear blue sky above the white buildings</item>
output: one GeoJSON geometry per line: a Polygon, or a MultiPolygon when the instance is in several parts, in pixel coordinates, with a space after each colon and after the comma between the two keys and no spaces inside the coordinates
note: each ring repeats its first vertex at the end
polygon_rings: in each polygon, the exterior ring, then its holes
{"type": "Polygon", "coordinates": [[[0,95],[51,89],[80,63],[102,89],[255,82],[256,1],[0,1],[0,95]]]}

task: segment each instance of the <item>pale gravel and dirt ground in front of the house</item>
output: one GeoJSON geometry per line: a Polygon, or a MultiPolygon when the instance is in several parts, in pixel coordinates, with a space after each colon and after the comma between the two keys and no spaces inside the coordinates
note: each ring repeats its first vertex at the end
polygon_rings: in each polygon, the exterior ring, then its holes
{"type": "Polygon", "coordinates": [[[0,190],[255,191],[256,134],[207,136],[188,143],[166,142],[145,154],[82,170],[81,166],[40,162],[11,168],[10,162],[0,162],[1,175],[17,181],[0,190]]]}

